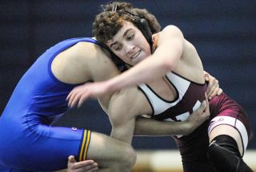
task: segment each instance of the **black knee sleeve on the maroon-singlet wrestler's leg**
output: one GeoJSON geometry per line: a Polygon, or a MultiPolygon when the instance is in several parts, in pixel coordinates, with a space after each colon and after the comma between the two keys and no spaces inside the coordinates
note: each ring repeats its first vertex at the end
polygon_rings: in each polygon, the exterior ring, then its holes
{"type": "Polygon", "coordinates": [[[218,135],[212,140],[208,157],[220,172],[253,172],[242,160],[238,144],[229,135],[218,135]]]}

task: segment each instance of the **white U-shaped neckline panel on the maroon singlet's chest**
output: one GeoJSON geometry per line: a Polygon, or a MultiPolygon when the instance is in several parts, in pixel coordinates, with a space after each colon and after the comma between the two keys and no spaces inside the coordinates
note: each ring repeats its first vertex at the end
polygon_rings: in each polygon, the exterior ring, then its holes
{"type": "Polygon", "coordinates": [[[166,101],[161,99],[160,96],[156,95],[146,84],[140,84],[139,87],[146,94],[150,100],[152,108],[154,108],[154,115],[159,115],[166,109],[174,107],[182,100],[184,94],[190,86],[190,81],[175,75],[173,72],[167,72],[166,78],[169,80],[170,84],[173,84],[174,88],[178,92],[177,98],[174,101],[166,101]]]}

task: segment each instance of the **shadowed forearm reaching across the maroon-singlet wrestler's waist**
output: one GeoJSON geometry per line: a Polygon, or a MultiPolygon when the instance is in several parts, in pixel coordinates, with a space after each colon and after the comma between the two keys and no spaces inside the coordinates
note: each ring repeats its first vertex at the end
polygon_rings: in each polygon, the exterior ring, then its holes
{"type": "Polygon", "coordinates": [[[136,119],[134,135],[189,135],[194,129],[195,126],[188,121],[167,122],[139,117],[136,119]]]}

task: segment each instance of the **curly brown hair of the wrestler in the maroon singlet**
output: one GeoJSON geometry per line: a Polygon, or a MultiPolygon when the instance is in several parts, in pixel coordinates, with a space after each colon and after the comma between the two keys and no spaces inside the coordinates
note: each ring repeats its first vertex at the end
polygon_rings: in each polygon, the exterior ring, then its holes
{"type": "Polygon", "coordinates": [[[105,45],[107,41],[118,33],[124,21],[134,23],[134,16],[127,13],[126,10],[130,10],[133,14],[138,15],[139,18],[146,19],[152,33],[158,33],[161,30],[161,26],[153,14],[150,14],[146,9],[134,8],[130,3],[111,2],[102,5],[102,10],[103,12],[96,16],[93,23],[94,37],[102,45],[105,45]],[[114,6],[117,6],[116,11],[112,11],[114,6]]]}

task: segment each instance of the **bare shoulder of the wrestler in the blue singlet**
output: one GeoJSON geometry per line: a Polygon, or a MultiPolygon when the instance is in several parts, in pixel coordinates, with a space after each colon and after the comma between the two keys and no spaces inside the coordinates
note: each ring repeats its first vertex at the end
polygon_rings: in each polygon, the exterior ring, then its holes
{"type": "Polygon", "coordinates": [[[118,74],[110,56],[100,46],[78,42],[54,58],[51,69],[58,80],[79,84],[88,80],[107,80],[118,74]]]}

